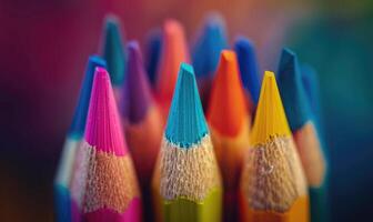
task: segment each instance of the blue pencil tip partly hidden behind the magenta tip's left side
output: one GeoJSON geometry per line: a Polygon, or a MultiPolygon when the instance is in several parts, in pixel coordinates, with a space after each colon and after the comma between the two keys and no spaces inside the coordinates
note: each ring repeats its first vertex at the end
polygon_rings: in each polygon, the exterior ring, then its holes
{"type": "Polygon", "coordinates": [[[88,114],[88,107],[91,98],[94,70],[98,67],[105,68],[107,67],[105,61],[98,56],[91,56],[88,59],[88,64],[85,68],[85,74],[82,82],[82,87],[80,89],[78,104],[72,119],[72,123],[69,129],[69,137],[73,138],[83,137],[88,114]]]}

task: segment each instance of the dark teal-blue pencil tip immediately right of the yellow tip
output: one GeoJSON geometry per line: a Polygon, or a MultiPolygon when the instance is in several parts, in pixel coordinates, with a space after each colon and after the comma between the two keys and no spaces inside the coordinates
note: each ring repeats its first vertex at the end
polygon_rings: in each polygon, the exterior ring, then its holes
{"type": "Polygon", "coordinates": [[[312,114],[302,84],[296,54],[290,49],[282,50],[278,81],[290,128],[295,131],[309,121],[312,114]]]}

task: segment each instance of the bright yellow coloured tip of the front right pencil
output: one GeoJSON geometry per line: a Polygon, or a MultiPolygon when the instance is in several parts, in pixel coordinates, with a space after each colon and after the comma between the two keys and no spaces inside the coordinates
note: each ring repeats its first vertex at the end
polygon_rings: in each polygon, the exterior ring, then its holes
{"type": "Polygon", "coordinates": [[[265,143],[270,138],[278,135],[290,137],[291,131],[274,73],[265,71],[251,134],[251,144],[265,143]]]}

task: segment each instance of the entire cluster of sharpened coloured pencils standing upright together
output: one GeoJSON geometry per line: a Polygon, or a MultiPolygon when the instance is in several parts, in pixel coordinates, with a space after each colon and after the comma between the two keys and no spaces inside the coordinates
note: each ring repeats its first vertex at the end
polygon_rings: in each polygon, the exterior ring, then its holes
{"type": "Polygon", "coordinates": [[[239,37],[230,50],[226,28],[209,14],[190,58],[168,19],[143,61],[105,20],[58,167],[58,221],[327,221],[311,79],[288,49],[278,75],[261,75],[254,44],[239,37]]]}

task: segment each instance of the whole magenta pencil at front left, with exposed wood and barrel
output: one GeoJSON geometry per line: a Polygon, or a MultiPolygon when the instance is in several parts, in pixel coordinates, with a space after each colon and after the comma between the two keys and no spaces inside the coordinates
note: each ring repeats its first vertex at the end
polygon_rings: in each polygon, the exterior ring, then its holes
{"type": "Polygon", "coordinates": [[[80,160],[72,181],[77,221],[141,221],[137,176],[105,69],[97,68],[80,160]],[[77,192],[78,191],[78,192],[77,192]]]}

